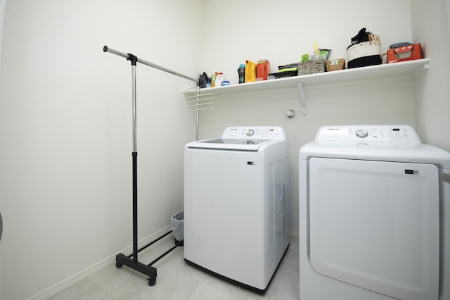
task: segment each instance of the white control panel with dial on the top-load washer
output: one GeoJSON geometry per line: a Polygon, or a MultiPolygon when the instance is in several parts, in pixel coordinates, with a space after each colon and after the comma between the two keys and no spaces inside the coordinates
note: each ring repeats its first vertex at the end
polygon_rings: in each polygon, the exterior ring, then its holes
{"type": "Polygon", "coordinates": [[[283,128],[279,126],[238,126],[227,127],[221,138],[285,140],[285,135],[283,128]]]}

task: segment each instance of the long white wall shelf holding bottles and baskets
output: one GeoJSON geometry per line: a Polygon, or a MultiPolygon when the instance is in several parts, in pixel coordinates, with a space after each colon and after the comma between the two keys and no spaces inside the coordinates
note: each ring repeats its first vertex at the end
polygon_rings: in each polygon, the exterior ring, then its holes
{"type": "MultiPolygon", "coordinates": [[[[301,83],[304,88],[314,88],[322,85],[357,85],[360,82],[388,82],[393,80],[412,80],[423,70],[428,68],[430,58],[401,63],[385,63],[371,65],[362,68],[352,68],[333,72],[301,75],[260,82],[248,82],[244,84],[229,85],[225,87],[207,87],[200,89],[200,93],[212,92],[214,98],[228,94],[241,94],[253,92],[269,92],[272,89],[299,88],[301,83]]],[[[185,96],[191,96],[195,90],[184,92],[185,96]]]]}

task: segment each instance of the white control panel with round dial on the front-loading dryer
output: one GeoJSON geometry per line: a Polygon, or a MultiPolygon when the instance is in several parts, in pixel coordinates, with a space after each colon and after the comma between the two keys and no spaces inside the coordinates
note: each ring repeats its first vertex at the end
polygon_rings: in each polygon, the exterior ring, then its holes
{"type": "Polygon", "coordinates": [[[409,125],[323,126],[317,132],[315,141],[368,146],[413,147],[420,144],[416,131],[409,125]]]}

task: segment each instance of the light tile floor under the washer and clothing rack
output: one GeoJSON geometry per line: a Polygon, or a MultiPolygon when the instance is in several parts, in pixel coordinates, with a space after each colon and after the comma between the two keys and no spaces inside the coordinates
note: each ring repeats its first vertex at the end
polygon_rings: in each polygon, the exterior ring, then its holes
{"type": "MultiPolygon", "coordinates": [[[[168,235],[139,253],[141,263],[150,263],[173,246],[168,235]]],[[[51,300],[108,299],[299,299],[298,237],[290,238],[290,246],[264,295],[250,292],[209,275],[184,262],[183,247],[177,247],[153,265],[158,270],[156,284],[148,285],[147,276],[126,266],[111,263],[86,279],[68,287],[51,300]]]]}

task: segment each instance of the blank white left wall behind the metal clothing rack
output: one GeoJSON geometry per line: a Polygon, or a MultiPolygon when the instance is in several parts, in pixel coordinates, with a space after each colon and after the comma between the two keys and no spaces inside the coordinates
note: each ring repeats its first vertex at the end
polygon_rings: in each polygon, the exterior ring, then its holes
{"type": "MultiPolygon", "coordinates": [[[[197,77],[199,6],[196,0],[6,4],[4,299],[37,295],[131,246],[131,65],[103,46],[197,77]]],[[[183,206],[183,146],[194,139],[195,115],[184,112],[181,91],[191,85],[137,66],[139,239],[167,227],[183,206]]]]}

